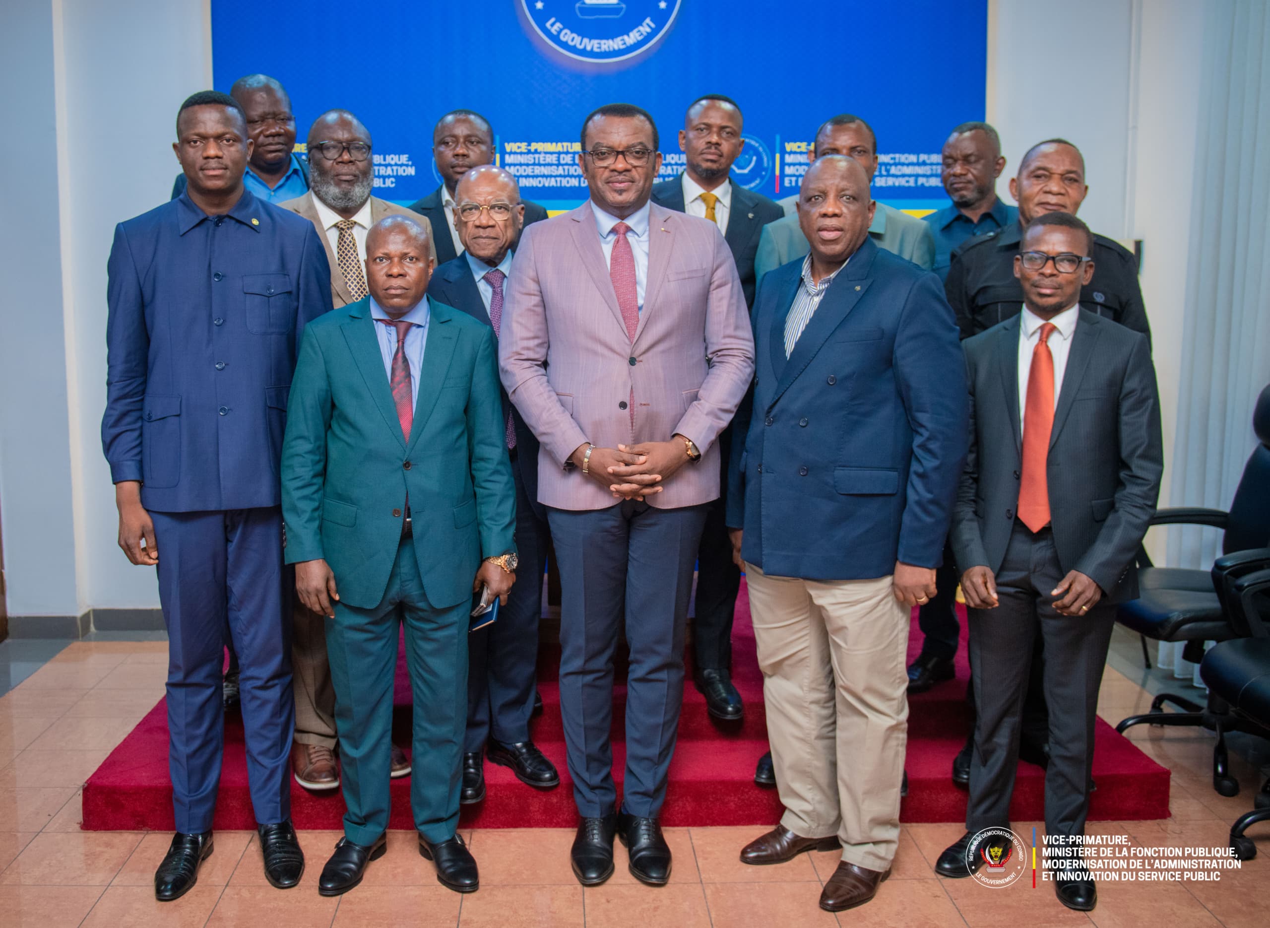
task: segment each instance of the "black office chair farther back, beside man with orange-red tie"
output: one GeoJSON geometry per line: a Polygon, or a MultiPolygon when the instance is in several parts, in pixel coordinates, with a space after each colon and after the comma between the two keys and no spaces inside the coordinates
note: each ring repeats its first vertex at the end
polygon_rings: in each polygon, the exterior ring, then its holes
{"type": "MultiPolygon", "coordinates": [[[[1116,609],[1116,622],[1142,636],[1147,657],[1147,638],[1186,642],[1182,657],[1199,664],[1204,642],[1228,641],[1240,634],[1232,628],[1220,596],[1241,577],[1270,568],[1270,386],[1261,390],[1252,413],[1252,430],[1259,445],[1248,456],[1231,511],[1213,508],[1165,508],[1156,512],[1152,525],[1210,525],[1222,529],[1223,557],[1212,571],[1156,567],[1146,550],[1138,554],[1139,595],[1116,609]]],[[[1147,666],[1151,666],[1149,658],[1147,666]]],[[[1203,726],[1217,732],[1213,750],[1213,788],[1222,796],[1236,796],[1240,783],[1229,775],[1223,727],[1229,730],[1229,712],[1220,700],[1200,706],[1175,693],[1161,693],[1151,702],[1151,712],[1130,716],[1116,726],[1123,732],[1134,725],[1203,726]],[[1165,712],[1172,703],[1182,712],[1165,712]]]]}

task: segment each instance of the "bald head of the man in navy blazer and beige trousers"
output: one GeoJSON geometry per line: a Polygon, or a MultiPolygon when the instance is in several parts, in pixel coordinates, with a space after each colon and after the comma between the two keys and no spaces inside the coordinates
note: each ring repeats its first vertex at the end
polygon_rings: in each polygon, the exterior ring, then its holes
{"type": "Polygon", "coordinates": [[[813,276],[832,273],[869,235],[869,172],[855,158],[824,155],[803,175],[798,221],[812,245],[813,276]]]}

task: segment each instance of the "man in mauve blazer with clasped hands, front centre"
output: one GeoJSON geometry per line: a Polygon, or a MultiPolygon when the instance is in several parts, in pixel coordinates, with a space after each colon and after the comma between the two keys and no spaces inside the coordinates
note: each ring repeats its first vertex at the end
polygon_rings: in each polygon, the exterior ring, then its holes
{"type": "Polygon", "coordinates": [[[658,814],[683,700],[683,638],[716,439],[753,374],[737,267],[718,226],[653,206],[653,118],[629,104],[583,122],[591,200],[525,230],[499,345],[503,385],[541,441],[563,591],[560,708],[582,815],[574,875],[667,882],[658,814]],[[625,625],[624,625],[625,618],[625,625]],[[626,775],[616,807],[610,722],[625,627],[626,775]]]}

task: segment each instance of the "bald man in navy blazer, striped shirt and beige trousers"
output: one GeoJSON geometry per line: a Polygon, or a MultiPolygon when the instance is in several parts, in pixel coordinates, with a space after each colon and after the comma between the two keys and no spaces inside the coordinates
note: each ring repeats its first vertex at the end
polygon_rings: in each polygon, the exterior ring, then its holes
{"type": "Polygon", "coordinates": [[[872,215],[857,161],[828,155],[803,178],[812,252],[759,283],[753,412],[728,492],[785,806],[740,856],[841,844],[829,911],[890,875],[909,610],[935,595],[968,430],[939,277],[879,249],[872,215]]]}

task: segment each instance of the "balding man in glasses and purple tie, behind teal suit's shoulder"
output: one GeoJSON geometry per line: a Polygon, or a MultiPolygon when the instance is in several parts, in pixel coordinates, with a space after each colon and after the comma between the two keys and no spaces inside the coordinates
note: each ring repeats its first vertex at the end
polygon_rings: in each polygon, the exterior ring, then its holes
{"type": "MultiPolygon", "coordinates": [[[[512,249],[523,224],[525,203],[514,177],[491,164],[469,170],[455,187],[455,225],[464,250],[437,268],[428,295],[493,325],[497,338],[512,249]]],[[[538,502],[538,440],[505,392],[503,421],[516,482],[517,572],[522,582],[512,587],[498,620],[472,633],[469,642],[467,734],[460,792],[465,805],[485,797],[483,750],[493,763],[509,767],[532,787],[550,789],[560,783],[555,765],[530,740],[549,536],[546,511],[538,502]]]]}

